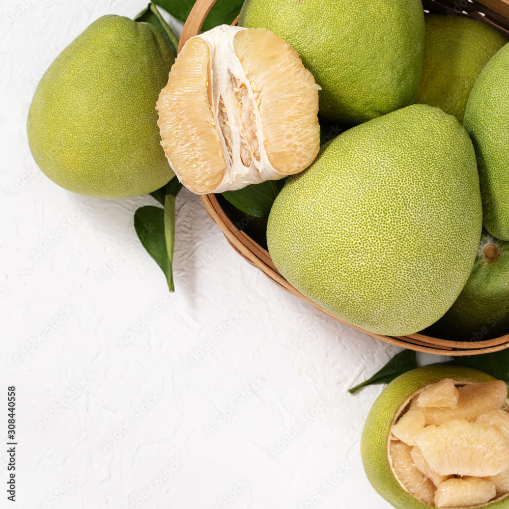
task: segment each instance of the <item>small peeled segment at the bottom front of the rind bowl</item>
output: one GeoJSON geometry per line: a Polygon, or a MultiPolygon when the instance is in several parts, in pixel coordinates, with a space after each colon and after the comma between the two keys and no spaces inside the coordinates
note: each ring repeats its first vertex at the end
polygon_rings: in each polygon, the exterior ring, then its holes
{"type": "Polygon", "coordinates": [[[437,507],[471,507],[489,502],[496,496],[495,485],[485,479],[447,479],[435,493],[437,507]]]}

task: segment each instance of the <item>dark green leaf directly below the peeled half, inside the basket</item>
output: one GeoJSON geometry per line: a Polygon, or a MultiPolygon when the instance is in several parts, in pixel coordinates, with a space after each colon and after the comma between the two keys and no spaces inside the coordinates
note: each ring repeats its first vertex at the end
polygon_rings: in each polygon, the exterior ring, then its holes
{"type": "Polygon", "coordinates": [[[261,184],[251,184],[238,191],[226,191],[222,195],[234,207],[253,217],[269,217],[270,208],[285,185],[285,179],[267,180],[261,184]]]}

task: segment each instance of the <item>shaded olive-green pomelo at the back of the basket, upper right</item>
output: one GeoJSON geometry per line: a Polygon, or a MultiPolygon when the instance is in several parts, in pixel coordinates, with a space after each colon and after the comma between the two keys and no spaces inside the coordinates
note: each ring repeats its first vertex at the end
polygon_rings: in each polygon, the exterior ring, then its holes
{"type": "Polygon", "coordinates": [[[461,124],[477,76],[507,39],[465,16],[430,14],[424,19],[424,65],[415,102],[438,106],[461,124]]]}

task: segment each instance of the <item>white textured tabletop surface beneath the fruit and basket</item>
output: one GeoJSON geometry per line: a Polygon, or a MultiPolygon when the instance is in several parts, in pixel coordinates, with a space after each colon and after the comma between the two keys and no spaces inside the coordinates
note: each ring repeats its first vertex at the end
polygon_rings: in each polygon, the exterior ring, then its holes
{"type": "Polygon", "coordinates": [[[133,229],[150,196],[76,195],[34,163],[25,121],[46,68],[99,16],[146,4],[0,4],[0,507],[385,509],[359,454],[381,386],[347,389],[397,349],[276,288],[186,190],[168,294],[133,229]]]}

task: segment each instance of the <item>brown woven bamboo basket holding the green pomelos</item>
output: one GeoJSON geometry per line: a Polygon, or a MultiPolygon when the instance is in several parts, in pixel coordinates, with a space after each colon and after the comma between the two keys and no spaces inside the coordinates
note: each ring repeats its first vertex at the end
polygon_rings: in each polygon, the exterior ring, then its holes
{"type": "MultiPolygon", "coordinates": [[[[196,0],[182,30],[179,52],[189,38],[200,33],[203,22],[216,1],[217,0],[196,0]]],[[[222,1],[225,2],[227,0],[222,1]]],[[[479,0],[478,2],[468,0],[455,0],[454,2],[447,0],[422,0],[422,4],[426,12],[469,16],[484,23],[488,23],[509,38],[509,0],[479,0]]],[[[237,24],[237,20],[232,24],[237,24]]],[[[350,325],[384,343],[419,352],[442,355],[475,355],[509,348],[509,334],[492,340],[460,342],[430,337],[419,333],[409,334],[407,336],[384,336],[366,331],[346,322],[312,302],[290,285],[272,263],[269,252],[249,237],[243,230],[237,228],[232,219],[223,210],[221,201],[218,200],[215,194],[205,194],[202,195],[201,198],[209,216],[219,226],[228,242],[242,258],[247,260],[254,267],[260,269],[276,285],[309,302],[309,304],[333,320],[350,325]]]]}

